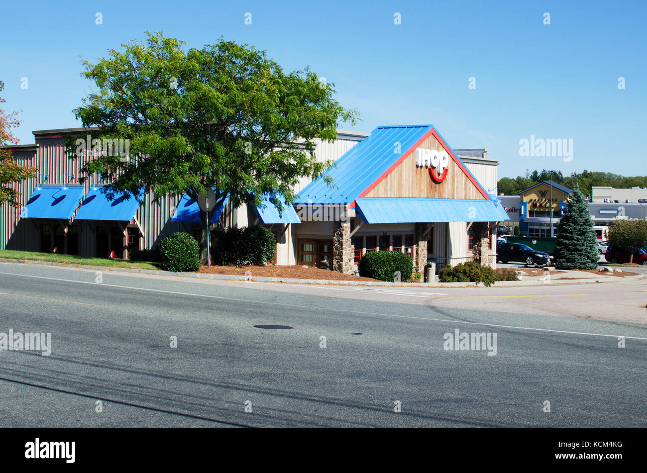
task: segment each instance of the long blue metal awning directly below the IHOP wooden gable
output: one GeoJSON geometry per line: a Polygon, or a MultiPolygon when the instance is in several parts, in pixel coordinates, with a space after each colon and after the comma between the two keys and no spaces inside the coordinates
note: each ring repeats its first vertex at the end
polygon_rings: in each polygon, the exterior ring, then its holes
{"type": "Polygon", "coordinates": [[[417,222],[503,222],[510,217],[492,200],[363,197],[356,210],[367,224],[417,222]]]}

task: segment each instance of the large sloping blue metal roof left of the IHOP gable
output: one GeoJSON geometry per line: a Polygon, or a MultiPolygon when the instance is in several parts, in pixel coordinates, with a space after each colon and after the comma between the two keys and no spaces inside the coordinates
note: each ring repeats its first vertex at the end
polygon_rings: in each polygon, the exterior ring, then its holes
{"type": "Polygon", "coordinates": [[[333,178],[333,187],[328,187],[320,176],[303,188],[295,202],[350,204],[432,128],[433,125],[377,127],[345,152],[336,161],[336,167],[325,171],[333,178]],[[399,153],[393,152],[397,143],[399,153]]]}

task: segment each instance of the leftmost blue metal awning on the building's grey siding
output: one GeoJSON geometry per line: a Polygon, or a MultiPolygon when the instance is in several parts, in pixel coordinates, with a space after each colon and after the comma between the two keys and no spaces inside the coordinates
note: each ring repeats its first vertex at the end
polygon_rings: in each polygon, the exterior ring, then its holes
{"type": "Polygon", "coordinates": [[[37,185],[20,218],[64,218],[74,215],[83,198],[82,185],[37,185]]]}

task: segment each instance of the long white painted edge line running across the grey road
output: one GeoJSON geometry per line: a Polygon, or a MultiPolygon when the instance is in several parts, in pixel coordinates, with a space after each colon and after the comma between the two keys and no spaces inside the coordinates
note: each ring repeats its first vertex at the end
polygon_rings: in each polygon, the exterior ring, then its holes
{"type": "Polygon", "coordinates": [[[514,326],[514,325],[501,325],[501,324],[485,324],[483,322],[452,321],[448,319],[431,319],[429,317],[415,317],[414,315],[396,315],[392,313],[364,312],[364,311],[356,311],[356,310],[348,310],[348,309],[332,309],[328,307],[300,306],[298,304],[284,304],[283,302],[266,302],[264,300],[237,299],[235,297],[223,297],[223,296],[206,295],[206,294],[194,294],[189,292],[166,291],[164,289],[133,288],[131,286],[120,286],[118,284],[106,284],[105,282],[76,281],[72,279],[49,278],[45,276],[32,276],[32,275],[25,275],[25,274],[3,273],[3,272],[0,272],[0,274],[10,275],[10,276],[21,276],[21,277],[34,278],[34,279],[49,279],[54,281],[76,282],[77,284],[92,284],[93,286],[107,286],[109,288],[133,289],[137,291],[161,292],[166,294],[188,295],[193,297],[206,297],[208,299],[236,300],[237,302],[252,302],[252,303],[261,304],[261,305],[283,306],[283,307],[292,307],[292,308],[300,308],[300,309],[308,309],[308,310],[358,313],[358,314],[365,314],[365,315],[382,315],[383,317],[397,317],[399,319],[417,319],[421,321],[448,322],[450,324],[468,324],[468,325],[479,325],[484,327],[512,328],[516,330],[545,331],[549,333],[569,333],[571,335],[589,335],[591,337],[612,337],[615,339],[617,339],[618,337],[624,337],[625,339],[647,341],[646,337],[629,337],[627,335],[609,335],[606,333],[588,333],[584,331],[552,330],[549,328],[520,327],[520,326],[514,326]]]}

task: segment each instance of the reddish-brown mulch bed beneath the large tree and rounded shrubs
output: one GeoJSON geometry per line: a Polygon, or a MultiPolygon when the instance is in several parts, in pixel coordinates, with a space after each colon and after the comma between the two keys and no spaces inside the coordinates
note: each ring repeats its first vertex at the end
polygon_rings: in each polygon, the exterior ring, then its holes
{"type": "Polygon", "coordinates": [[[334,281],[371,282],[377,281],[377,279],[343,274],[339,273],[338,271],[331,271],[329,269],[302,268],[301,266],[277,266],[272,264],[269,264],[267,266],[243,266],[242,268],[236,268],[236,266],[212,266],[211,268],[207,268],[206,266],[203,266],[202,268],[200,268],[198,273],[236,276],[245,276],[246,273],[247,275],[251,273],[252,276],[285,279],[321,279],[334,281]]]}

